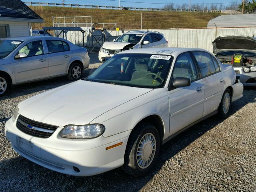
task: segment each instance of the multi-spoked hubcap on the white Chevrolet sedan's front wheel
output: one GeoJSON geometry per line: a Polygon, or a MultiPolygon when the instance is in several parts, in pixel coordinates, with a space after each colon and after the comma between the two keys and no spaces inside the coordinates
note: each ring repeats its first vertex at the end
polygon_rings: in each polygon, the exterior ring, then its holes
{"type": "Polygon", "coordinates": [[[137,148],[137,164],[145,169],[152,163],[156,153],[156,138],[151,133],[146,133],[140,140],[137,148]]]}

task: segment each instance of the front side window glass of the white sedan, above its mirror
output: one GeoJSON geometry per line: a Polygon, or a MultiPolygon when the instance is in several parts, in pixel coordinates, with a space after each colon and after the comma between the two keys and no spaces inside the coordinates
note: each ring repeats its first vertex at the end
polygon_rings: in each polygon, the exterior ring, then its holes
{"type": "Polygon", "coordinates": [[[191,81],[198,79],[198,73],[196,66],[189,53],[183,53],[176,59],[174,70],[172,74],[173,78],[185,77],[191,81]]]}

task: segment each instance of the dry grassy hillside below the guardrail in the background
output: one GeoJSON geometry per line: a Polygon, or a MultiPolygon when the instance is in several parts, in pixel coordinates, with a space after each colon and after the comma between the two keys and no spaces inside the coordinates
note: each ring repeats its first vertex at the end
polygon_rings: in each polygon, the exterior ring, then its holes
{"type": "MultiPolygon", "coordinates": [[[[90,15],[92,15],[92,23],[117,23],[117,27],[120,29],[140,29],[141,17],[142,29],[202,28],[207,26],[209,20],[221,15],[221,13],[206,12],[156,12],[52,6],[30,6],[30,8],[40,15],[45,21],[43,24],[33,24],[33,28],[52,26],[52,16],[90,15]]],[[[108,28],[110,27],[111,25],[108,28]]]]}

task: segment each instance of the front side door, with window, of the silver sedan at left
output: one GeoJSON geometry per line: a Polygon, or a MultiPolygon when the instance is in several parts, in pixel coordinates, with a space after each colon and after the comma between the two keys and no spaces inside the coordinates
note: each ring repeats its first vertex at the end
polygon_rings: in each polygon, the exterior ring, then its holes
{"type": "Polygon", "coordinates": [[[27,57],[13,58],[16,83],[43,79],[49,76],[48,57],[44,54],[42,41],[29,42],[17,53],[25,53],[27,57]]]}

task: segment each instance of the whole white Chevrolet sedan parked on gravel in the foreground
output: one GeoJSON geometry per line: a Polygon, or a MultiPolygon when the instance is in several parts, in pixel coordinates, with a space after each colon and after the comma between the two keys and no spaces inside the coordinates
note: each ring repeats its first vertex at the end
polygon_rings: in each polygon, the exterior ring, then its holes
{"type": "Polygon", "coordinates": [[[16,152],[57,172],[122,166],[144,176],[161,144],[214,114],[226,118],[242,92],[232,66],[205,50],[127,50],[88,78],[18,104],[5,132],[16,152]]]}

